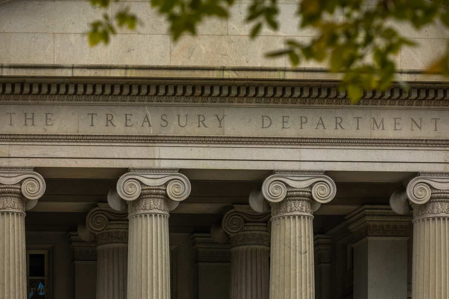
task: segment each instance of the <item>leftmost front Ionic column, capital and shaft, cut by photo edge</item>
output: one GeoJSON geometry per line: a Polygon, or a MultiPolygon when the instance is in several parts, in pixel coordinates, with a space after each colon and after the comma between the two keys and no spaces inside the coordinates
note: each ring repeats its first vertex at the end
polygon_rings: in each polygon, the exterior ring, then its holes
{"type": "Polygon", "coordinates": [[[25,210],[44,191],[44,178],[32,167],[0,168],[0,298],[27,297],[25,210]]]}

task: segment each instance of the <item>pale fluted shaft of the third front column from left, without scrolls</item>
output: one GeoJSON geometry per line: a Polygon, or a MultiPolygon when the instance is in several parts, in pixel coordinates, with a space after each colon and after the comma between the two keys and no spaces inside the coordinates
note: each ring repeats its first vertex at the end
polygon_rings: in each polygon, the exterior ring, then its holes
{"type": "Polygon", "coordinates": [[[310,188],[287,190],[271,203],[270,299],[314,299],[310,188]]]}

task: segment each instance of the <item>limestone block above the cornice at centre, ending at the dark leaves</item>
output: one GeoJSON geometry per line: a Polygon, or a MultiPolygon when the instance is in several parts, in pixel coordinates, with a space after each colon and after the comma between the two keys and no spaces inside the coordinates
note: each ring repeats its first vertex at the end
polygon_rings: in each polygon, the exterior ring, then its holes
{"type": "Polygon", "coordinates": [[[171,65],[283,67],[285,57],[265,57],[283,45],[284,38],[277,36],[185,35],[171,44],[171,65]]]}

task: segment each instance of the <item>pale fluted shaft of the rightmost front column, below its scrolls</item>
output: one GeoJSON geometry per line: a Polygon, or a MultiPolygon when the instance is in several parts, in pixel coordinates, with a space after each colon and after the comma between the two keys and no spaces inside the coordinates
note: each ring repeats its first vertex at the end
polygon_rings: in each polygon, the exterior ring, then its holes
{"type": "Polygon", "coordinates": [[[449,298],[449,192],[412,207],[413,299],[449,298]]]}

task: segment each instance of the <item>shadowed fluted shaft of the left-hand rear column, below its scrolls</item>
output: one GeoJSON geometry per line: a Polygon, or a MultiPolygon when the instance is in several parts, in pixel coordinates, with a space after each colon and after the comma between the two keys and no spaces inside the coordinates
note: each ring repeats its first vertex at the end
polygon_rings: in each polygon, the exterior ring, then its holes
{"type": "Polygon", "coordinates": [[[126,299],[128,223],[111,221],[97,234],[97,299],[126,299]]]}

